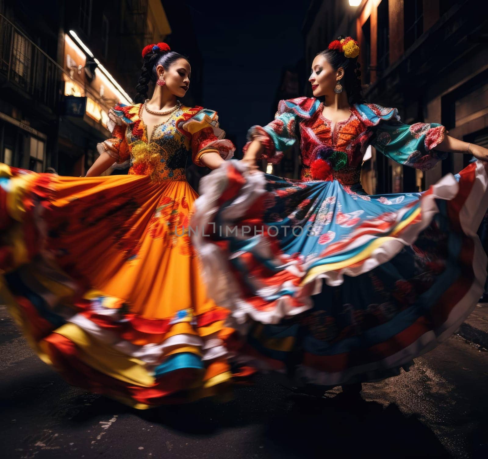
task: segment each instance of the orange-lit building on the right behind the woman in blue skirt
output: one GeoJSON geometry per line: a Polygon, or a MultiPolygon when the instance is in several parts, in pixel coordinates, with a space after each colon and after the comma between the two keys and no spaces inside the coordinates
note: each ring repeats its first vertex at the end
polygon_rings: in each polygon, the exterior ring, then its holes
{"type": "MultiPolygon", "coordinates": [[[[366,100],[395,106],[402,120],[439,122],[449,135],[488,144],[488,21],[479,0],[312,1],[303,33],[309,62],[338,35],[359,41],[366,100]]],[[[311,95],[309,88],[306,90],[311,95]]],[[[468,155],[431,171],[403,167],[373,149],[369,192],[421,191],[468,155]]],[[[367,169],[365,171],[367,173],[367,169]]]]}

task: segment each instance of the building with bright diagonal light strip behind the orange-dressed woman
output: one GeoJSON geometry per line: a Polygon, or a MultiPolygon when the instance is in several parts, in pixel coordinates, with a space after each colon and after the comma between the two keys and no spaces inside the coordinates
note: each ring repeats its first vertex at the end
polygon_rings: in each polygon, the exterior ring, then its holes
{"type": "Polygon", "coordinates": [[[107,111],[132,103],[141,50],[171,33],[160,0],[64,2],[59,48],[63,98],[59,129],[61,175],[83,175],[107,138],[107,111]]]}

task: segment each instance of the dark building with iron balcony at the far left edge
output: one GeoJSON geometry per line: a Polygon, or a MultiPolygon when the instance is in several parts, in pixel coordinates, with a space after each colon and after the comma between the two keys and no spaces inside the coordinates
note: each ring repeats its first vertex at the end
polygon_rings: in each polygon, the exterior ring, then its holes
{"type": "Polygon", "coordinates": [[[57,156],[61,2],[54,3],[47,17],[40,2],[0,1],[0,161],[39,172],[57,156]]]}

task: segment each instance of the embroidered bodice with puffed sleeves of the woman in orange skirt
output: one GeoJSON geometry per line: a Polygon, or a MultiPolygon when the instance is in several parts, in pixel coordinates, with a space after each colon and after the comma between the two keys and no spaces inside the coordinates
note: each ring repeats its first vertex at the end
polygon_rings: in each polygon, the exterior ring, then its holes
{"type": "Polygon", "coordinates": [[[235,147],[224,139],[216,112],[182,106],[168,120],[154,126],[148,136],[142,107],[118,104],[111,108],[107,127],[113,138],[98,145],[99,153],[106,151],[118,163],[130,164],[130,175],[149,175],[154,181],[186,180],[189,155],[198,165],[202,165],[203,154],[210,151],[224,160],[233,156],[235,147]]]}

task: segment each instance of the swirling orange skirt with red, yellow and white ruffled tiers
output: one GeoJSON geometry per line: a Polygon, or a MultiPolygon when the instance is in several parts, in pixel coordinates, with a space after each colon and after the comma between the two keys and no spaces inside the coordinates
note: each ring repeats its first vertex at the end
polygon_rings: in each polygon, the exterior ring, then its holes
{"type": "Polygon", "coordinates": [[[71,384],[135,408],[228,393],[228,311],[207,297],[185,180],[0,164],[0,299],[71,384]]]}

